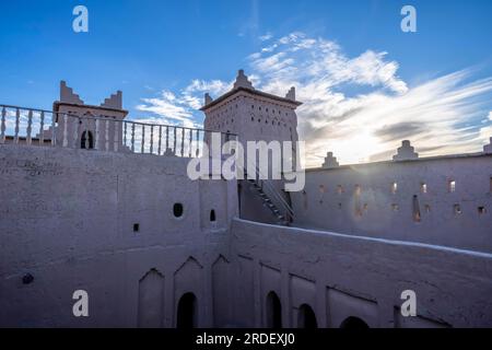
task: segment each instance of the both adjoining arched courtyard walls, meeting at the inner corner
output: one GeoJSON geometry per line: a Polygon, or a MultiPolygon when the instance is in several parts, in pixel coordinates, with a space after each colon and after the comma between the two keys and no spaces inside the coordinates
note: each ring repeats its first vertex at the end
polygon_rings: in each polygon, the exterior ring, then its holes
{"type": "Polygon", "coordinates": [[[491,254],[233,219],[236,183],[187,162],[0,145],[0,327],[174,327],[188,293],[201,327],[492,326],[491,254]]]}

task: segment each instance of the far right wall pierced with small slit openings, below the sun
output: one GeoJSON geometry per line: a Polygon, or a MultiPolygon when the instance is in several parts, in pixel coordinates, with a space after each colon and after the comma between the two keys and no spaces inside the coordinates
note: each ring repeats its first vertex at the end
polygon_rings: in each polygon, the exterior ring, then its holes
{"type": "Polygon", "coordinates": [[[492,253],[492,154],[306,171],[294,225],[492,253]]]}

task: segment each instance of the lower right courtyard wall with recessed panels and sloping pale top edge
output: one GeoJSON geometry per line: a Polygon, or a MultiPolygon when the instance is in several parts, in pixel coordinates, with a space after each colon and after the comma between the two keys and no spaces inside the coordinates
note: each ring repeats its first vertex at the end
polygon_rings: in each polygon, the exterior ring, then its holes
{"type": "MultiPolygon", "coordinates": [[[[370,327],[491,327],[492,255],[234,220],[235,319],[265,327],[268,295],[283,327],[308,305],[319,327],[358,317],[370,327]],[[417,317],[402,317],[401,292],[417,293],[417,317]]],[[[274,317],[273,317],[274,318],[274,317]]]]}

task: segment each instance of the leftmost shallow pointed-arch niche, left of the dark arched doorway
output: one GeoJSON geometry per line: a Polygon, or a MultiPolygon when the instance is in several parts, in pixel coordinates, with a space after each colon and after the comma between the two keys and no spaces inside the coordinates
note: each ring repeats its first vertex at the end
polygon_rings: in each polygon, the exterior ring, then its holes
{"type": "Polygon", "coordinates": [[[160,328],[164,320],[164,276],[151,269],[139,281],[138,326],[160,328]]]}

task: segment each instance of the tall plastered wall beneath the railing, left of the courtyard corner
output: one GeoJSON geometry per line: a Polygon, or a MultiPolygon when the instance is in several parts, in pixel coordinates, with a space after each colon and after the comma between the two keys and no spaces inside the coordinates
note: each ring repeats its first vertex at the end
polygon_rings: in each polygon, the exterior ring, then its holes
{"type": "Polygon", "coordinates": [[[187,163],[0,145],[0,326],[172,327],[187,292],[198,326],[231,323],[212,296],[225,288],[237,186],[191,182],[187,163]],[[90,317],[73,316],[75,290],[90,317]]]}

